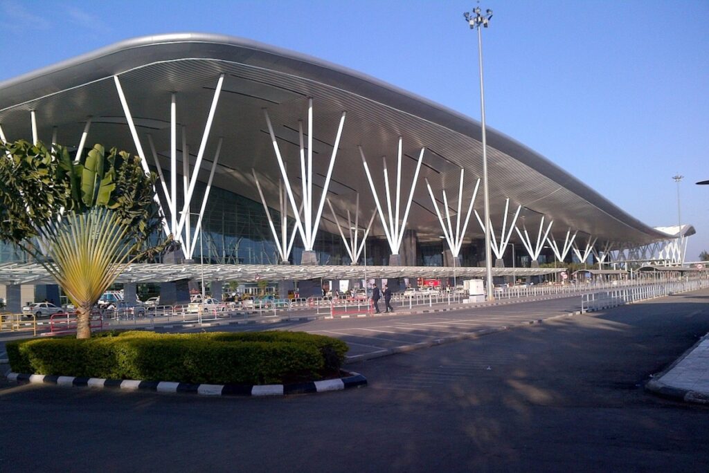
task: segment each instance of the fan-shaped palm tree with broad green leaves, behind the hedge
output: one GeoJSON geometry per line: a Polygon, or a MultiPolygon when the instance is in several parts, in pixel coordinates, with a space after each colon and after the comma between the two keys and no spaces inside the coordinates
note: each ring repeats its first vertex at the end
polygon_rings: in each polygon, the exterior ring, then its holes
{"type": "Polygon", "coordinates": [[[74,163],[59,145],[0,143],[0,240],[62,287],[77,307],[77,338],[91,336],[91,307],[123,268],[171,241],[154,237],[154,183],[137,156],[100,144],[74,163]]]}

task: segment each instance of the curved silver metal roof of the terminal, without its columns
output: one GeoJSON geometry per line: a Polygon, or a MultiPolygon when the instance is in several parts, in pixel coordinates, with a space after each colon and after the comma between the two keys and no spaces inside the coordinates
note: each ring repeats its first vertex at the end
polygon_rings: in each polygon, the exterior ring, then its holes
{"type": "MultiPolygon", "coordinates": [[[[354,210],[355,193],[363,208],[374,209],[358,145],[370,167],[378,167],[381,157],[388,156],[393,168],[397,140],[403,137],[407,158],[402,194],[411,185],[420,147],[427,152],[419,181],[428,178],[435,192],[445,188],[449,195],[457,195],[460,167],[469,171],[467,183],[471,174],[481,176],[481,127],[476,120],[351,69],[223,35],[134,38],[4,81],[0,83],[0,123],[8,139],[26,138],[30,136],[28,112],[35,110],[40,139],[48,141],[56,126],[58,142],[76,145],[86,116],[91,115],[88,143],[134,150],[113,85],[112,76],[118,75],[141,139],[152,135],[161,166],[168,169],[170,94],[177,92],[177,120],[186,126],[189,147],[196,151],[219,74],[225,74],[225,82],[200,176],[206,181],[216,137],[224,137],[214,181],[220,188],[258,200],[250,178],[254,168],[265,177],[262,184],[267,193],[274,195],[279,171],[262,108],[269,110],[281,152],[294,171],[289,172],[291,181],[296,180],[298,120],[306,117],[308,97],[314,101],[314,162],[322,181],[337,120],[347,110],[329,192],[340,212],[354,210]]],[[[498,232],[505,199],[510,198],[510,212],[518,204],[523,206],[519,227],[536,229],[546,215],[547,222],[554,220],[552,233],[559,236],[570,227],[579,230],[579,242],[590,239],[589,235],[598,237],[598,244],[647,244],[667,238],[514,139],[488,129],[487,140],[491,220],[498,232]]],[[[381,192],[381,174],[375,173],[374,180],[381,192]]],[[[467,200],[471,193],[472,186],[466,186],[467,200]]],[[[276,207],[276,200],[270,199],[269,205],[276,207]]],[[[479,195],[476,208],[481,203],[479,195]]],[[[454,214],[456,205],[450,206],[454,214]]],[[[326,209],[322,225],[336,232],[328,214],[326,209]]],[[[441,233],[422,182],[416,186],[409,222],[422,239],[437,239],[441,233]]],[[[381,234],[381,228],[373,232],[381,234]]],[[[479,225],[471,222],[468,239],[481,235],[479,225]]]]}

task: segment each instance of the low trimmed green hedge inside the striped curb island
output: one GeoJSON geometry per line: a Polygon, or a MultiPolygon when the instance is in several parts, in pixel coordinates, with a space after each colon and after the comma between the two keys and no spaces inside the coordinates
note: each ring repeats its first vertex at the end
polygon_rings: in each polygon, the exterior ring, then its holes
{"type": "Polygon", "coordinates": [[[86,340],[6,343],[13,372],[114,380],[286,384],[336,375],[347,345],[303,332],[155,334],[108,331],[86,340]]]}

